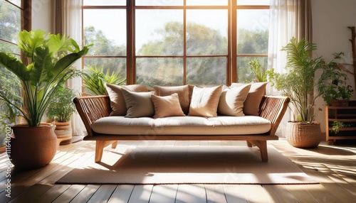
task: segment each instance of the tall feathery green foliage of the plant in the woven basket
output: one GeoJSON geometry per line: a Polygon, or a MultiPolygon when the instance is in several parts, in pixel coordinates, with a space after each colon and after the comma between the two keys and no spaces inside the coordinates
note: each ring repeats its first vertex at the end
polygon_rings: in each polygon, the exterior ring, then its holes
{"type": "Polygon", "coordinates": [[[305,39],[290,39],[282,50],[287,53],[287,73],[269,73],[269,79],[278,91],[290,97],[298,112],[298,121],[311,123],[314,121],[315,99],[320,94],[314,94],[317,86],[315,72],[323,66],[321,57],[312,58],[312,51],[316,49],[315,43],[305,39]]]}

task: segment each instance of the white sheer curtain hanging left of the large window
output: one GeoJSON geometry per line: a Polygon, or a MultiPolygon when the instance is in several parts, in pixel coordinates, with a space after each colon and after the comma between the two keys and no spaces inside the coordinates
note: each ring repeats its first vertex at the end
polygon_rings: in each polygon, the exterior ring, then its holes
{"type": "MultiPolygon", "coordinates": [[[[82,0],[56,0],[56,33],[61,33],[73,38],[79,45],[82,46],[82,0]]],[[[81,60],[75,62],[72,68],[80,70],[81,60]]],[[[81,92],[82,80],[79,77],[69,79],[66,86],[78,92],[81,92]]],[[[73,114],[71,117],[71,125],[73,135],[85,135],[85,126],[78,114],[73,114]]]]}

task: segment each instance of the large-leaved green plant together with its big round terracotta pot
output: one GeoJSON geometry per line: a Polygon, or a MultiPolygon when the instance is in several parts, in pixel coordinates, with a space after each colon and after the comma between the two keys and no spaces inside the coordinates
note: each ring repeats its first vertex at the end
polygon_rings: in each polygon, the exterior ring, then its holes
{"type": "Polygon", "coordinates": [[[25,61],[15,55],[0,52],[0,65],[13,72],[21,81],[20,104],[0,91],[0,99],[21,112],[26,124],[11,126],[11,162],[16,168],[38,168],[51,162],[56,154],[57,138],[53,124],[42,124],[53,92],[73,63],[88,53],[88,46],[80,50],[78,44],[66,35],[55,35],[42,30],[19,32],[18,46],[25,61]]]}

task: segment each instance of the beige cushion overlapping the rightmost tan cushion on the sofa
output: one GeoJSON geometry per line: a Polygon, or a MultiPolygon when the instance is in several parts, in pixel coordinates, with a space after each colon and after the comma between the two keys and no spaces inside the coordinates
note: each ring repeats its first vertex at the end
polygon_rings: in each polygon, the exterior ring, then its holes
{"type": "Polygon", "coordinates": [[[218,114],[224,116],[244,116],[244,101],[251,84],[241,87],[226,88],[221,93],[218,106],[218,114]]]}

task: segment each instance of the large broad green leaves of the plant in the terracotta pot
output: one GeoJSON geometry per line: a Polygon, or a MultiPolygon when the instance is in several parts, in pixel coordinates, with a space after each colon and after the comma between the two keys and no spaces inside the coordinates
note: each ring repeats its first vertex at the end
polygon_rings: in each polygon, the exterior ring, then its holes
{"type": "Polygon", "coordinates": [[[0,64],[21,81],[21,104],[14,102],[14,94],[0,90],[0,99],[21,111],[28,126],[39,126],[58,84],[66,79],[73,63],[88,53],[88,46],[80,50],[78,44],[66,35],[55,35],[42,30],[21,31],[18,46],[26,61],[0,52],[0,64]]]}

